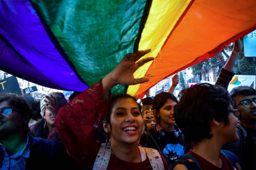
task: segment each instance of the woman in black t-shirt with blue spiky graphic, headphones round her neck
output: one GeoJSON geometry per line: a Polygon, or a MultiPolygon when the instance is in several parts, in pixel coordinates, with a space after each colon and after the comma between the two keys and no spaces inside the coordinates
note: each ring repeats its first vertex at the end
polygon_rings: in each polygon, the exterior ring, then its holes
{"type": "Polygon", "coordinates": [[[177,98],[169,92],[161,92],[154,97],[152,111],[157,124],[143,133],[139,141],[143,147],[161,151],[169,168],[187,152],[183,133],[175,124],[173,110],[177,102],[177,98]]]}

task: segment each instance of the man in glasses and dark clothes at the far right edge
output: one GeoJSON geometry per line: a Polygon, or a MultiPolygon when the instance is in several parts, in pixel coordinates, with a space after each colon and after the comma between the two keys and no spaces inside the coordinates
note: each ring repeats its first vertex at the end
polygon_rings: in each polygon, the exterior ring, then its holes
{"type": "Polygon", "coordinates": [[[241,110],[241,138],[237,150],[245,169],[256,169],[256,90],[238,86],[230,91],[235,108],[241,110]]]}

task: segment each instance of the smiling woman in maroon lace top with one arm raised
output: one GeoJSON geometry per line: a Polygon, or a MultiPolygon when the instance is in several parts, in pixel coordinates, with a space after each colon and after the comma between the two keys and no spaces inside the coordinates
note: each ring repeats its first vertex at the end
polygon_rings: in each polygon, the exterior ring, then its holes
{"type": "Polygon", "coordinates": [[[139,60],[148,52],[150,50],[125,55],[112,72],[60,108],[54,121],[56,130],[69,155],[82,168],[169,169],[161,153],[137,144],[144,126],[141,107],[136,100],[126,94],[111,100],[110,93],[105,95],[117,84],[134,85],[148,81],[146,77],[133,77],[138,67],[154,59],[139,60]],[[93,137],[102,121],[111,142],[100,145],[93,137]]]}

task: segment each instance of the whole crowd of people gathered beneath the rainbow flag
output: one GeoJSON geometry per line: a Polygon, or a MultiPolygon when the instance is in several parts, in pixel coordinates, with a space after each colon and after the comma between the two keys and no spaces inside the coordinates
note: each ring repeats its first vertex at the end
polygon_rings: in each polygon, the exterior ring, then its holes
{"type": "Polygon", "coordinates": [[[67,102],[53,92],[40,102],[29,95],[0,95],[0,170],[255,170],[256,90],[228,83],[242,50],[235,42],[215,85],[197,84],[141,104],[115,85],[148,81],[133,73],[150,50],[125,55],[108,75],[67,102]],[[141,60],[140,60],[141,59],[141,60]]]}

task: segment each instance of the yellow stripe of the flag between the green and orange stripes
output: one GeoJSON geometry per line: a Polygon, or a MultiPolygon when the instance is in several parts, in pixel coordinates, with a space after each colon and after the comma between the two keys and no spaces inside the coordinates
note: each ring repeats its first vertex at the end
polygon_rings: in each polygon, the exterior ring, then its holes
{"type": "MultiPolygon", "coordinates": [[[[143,56],[143,58],[156,57],[158,55],[164,41],[173,29],[179,17],[187,8],[187,5],[189,5],[190,1],[191,0],[152,1],[148,19],[143,29],[138,47],[139,50],[146,50],[150,48],[151,52],[143,56]]],[[[134,72],[134,77],[144,77],[152,62],[153,61],[141,66],[136,72],[134,72]]],[[[133,96],[138,91],[139,87],[140,84],[130,85],[127,93],[133,96]]]]}

